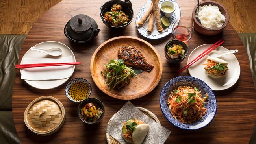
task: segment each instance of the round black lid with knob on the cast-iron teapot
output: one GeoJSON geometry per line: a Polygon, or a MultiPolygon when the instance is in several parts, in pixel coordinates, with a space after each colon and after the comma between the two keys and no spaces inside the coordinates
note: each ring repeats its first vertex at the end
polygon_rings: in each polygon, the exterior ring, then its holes
{"type": "Polygon", "coordinates": [[[87,15],[76,15],[70,20],[70,27],[73,31],[82,33],[91,28],[92,21],[91,18],[87,15]]]}

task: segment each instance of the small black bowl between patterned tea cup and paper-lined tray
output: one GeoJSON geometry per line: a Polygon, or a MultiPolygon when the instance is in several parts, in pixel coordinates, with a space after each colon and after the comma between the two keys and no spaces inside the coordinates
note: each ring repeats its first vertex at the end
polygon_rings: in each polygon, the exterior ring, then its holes
{"type": "Polygon", "coordinates": [[[83,100],[83,101],[79,104],[78,109],[77,109],[77,114],[78,114],[80,120],[82,120],[82,122],[84,122],[85,124],[89,124],[89,125],[98,124],[98,123],[102,120],[102,118],[103,118],[103,116],[104,116],[104,113],[105,113],[104,105],[103,105],[103,103],[102,103],[99,99],[97,99],[97,98],[87,98],[87,99],[83,100]],[[87,122],[87,121],[85,121],[85,120],[81,117],[81,111],[80,111],[81,108],[82,108],[84,105],[86,105],[87,103],[90,103],[90,102],[97,103],[97,105],[100,106],[100,108],[102,108],[102,110],[103,110],[103,114],[100,116],[100,118],[99,118],[96,122],[87,122]]]}

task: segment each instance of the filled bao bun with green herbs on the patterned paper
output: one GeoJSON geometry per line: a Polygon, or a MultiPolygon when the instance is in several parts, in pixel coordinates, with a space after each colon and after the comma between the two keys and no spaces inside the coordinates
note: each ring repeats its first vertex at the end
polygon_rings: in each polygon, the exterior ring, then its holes
{"type": "Polygon", "coordinates": [[[122,137],[124,140],[132,144],[141,144],[148,133],[149,124],[144,124],[141,120],[134,118],[123,124],[122,137]]]}

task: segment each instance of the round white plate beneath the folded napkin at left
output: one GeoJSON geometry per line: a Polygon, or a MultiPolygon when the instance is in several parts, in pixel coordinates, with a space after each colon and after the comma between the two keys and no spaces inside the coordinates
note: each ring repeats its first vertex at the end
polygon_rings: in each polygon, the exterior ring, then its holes
{"type": "MultiPolygon", "coordinates": [[[[73,58],[73,62],[76,62],[76,58],[75,55],[73,54],[72,50],[70,50],[70,48],[68,46],[66,46],[65,44],[62,44],[60,42],[55,42],[55,41],[46,41],[46,42],[41,42],[39,44],[36,44],[34,47],[36,48],[61,48],[62,50],[62,55],[59,57],[68,57],[68,56],[72,56],[73,58]]],[[[45,54],[43,52],[37,52],[34,50],[28,50],[26,52],[26,54],[24,54],[24,56],[21,59],[20,64],[25,64],[23,63],[23,58],[27,57],[27,58],[50,58],[52,56],[45,54]]],[[[72,74],[75,70],[75,65],[72,66],[72,74]]],[[[20,73],[22,74],[22,69],[20,69],[20,73]]],[[[70,74],[70,75],[72,75],[70,74]]],[[[47,81],[29,81],[29,80],[24,80],[26,81],[26,83],[28,83],[29,85],[31,85],[32,87],[35,87],[37,89],[53,89],[55,87],[58,87],[59,85],[62,85],[63,83],[65,83],[69,78],[66,79],[58,79],[58,80],[47,80],[47,81]]]]}

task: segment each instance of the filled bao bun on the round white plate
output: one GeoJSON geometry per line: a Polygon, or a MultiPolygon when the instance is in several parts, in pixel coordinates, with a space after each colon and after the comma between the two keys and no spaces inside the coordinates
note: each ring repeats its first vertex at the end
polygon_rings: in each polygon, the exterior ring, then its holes
{"type": "Polygon", "coordinates": [[[228,70],[228,62],[219,58],[208,57],[204,65],[206,65],[204,67],[206,74],[213,78],[225,76],[228,70]]]}

